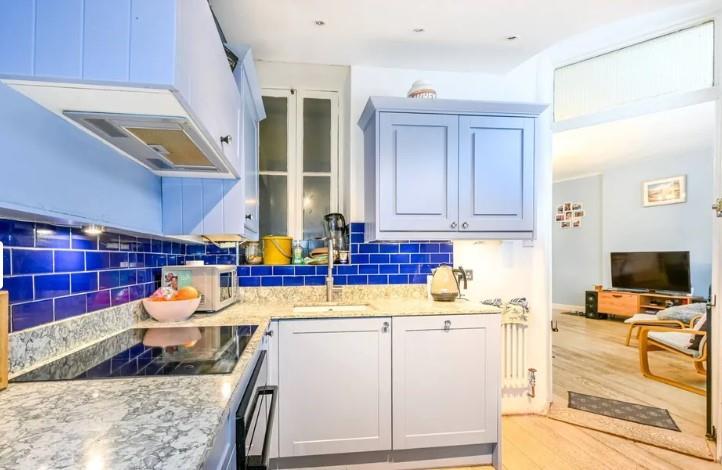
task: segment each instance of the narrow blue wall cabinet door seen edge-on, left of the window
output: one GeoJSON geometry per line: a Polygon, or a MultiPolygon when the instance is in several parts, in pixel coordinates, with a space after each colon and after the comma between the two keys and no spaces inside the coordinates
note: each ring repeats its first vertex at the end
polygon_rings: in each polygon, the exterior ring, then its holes
{"type": "Polygon", "coordinates": [[[258,120],[248,80],[243,72],[243,159],[246,238],[258,240],[258,120]]]}

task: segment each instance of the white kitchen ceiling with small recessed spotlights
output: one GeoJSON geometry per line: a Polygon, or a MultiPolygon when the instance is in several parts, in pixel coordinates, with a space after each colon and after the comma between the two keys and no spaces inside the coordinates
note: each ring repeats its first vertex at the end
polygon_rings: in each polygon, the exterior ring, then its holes
{"type": "Polygon", "coordinates": [[[279,62],[505,72],[552,44],[680,0],[211,0],[231,44],[279,62]],[[326,22],[316,26],[315,20],[326,22]],[[414,28],[424,28],[414,33],[414,28]],[[505,38],[518,35],[519,39],[505,38]]]}

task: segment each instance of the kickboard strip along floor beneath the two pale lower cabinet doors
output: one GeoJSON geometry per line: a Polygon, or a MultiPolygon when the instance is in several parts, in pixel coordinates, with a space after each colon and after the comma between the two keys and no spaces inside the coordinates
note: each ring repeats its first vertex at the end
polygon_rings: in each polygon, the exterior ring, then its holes
{"type": "Polygon", "coordinates": [[[497,444],[460,447],[437,447],[354,454],[318,455],[271,459],[269,469],[354,469],[354,470],[411,470],[418,468],[469,467],[494,465],[501,468],[497,444]]]}

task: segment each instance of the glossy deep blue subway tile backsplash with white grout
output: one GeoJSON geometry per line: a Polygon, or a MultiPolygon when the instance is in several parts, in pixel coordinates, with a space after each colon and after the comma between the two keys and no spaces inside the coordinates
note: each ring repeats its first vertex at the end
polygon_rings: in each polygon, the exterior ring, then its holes
{"type": "MultiPolygon", "coordinates": [[[[364,243],[364,224],[351,224],[351,263],[334,268],[338,285],[422,284],[441,263],[453,263],[451,242],[364,243]]],[[[161,268],[203,260],[235,264],[235,249],[0,219],[4,289],[11,331],[59,321],[149,296],[161,268]]],[[[241,257],[242,258],[242,257],[241,257]]],[[[237,268],[243,287],[321,286],[322,266],[237,268]]]]}

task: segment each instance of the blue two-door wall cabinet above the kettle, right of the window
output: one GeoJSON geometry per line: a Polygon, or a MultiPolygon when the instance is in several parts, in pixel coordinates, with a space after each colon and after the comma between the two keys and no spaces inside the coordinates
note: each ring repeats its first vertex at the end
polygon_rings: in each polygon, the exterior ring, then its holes
{"type": "Polygon", "coordinates": [[[372,97],[366,240],[531,239],[534,146],[546,106],[372,97]]]}

